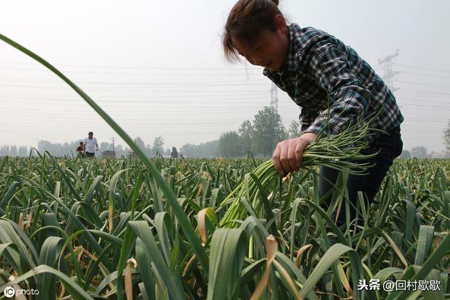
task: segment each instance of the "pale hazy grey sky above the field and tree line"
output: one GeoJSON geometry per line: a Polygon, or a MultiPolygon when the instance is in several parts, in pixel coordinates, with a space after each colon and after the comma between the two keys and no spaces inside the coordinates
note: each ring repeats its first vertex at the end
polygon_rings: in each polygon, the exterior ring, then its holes
{"type": "MultiPolygon", "coordinates": [[[[238,129],[270,104],[262,67],[224,60],[221,34],[235,1],[2,1],[0,33],[75,81],[132,138],[165,148],[238,129]]],[[[399,49],[394,86],[404,149],[443,150],[450,118],[450,1],[281,0],[290,22],[325,30],[383,75],[399,49]]],[[[56,75],[0,41],[0,145],[117,134],[56,75]]],[[[288,125],[299,107],[278,91],[288,125]]],[[[117,142],[116,142],[117,143],[117,142]]],[[[119,143],[124,143],[119,141],[119,143]]]]}

